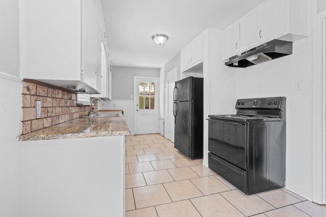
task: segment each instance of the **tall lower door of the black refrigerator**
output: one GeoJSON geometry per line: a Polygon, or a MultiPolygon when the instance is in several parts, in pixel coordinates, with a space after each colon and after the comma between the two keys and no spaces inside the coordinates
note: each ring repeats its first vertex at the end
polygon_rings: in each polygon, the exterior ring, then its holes
{"type": "Polygon", "coordinates": [[[174,147],[188,157],[192,157],[192,113],[193,102],[175,103],[174,147]]]}

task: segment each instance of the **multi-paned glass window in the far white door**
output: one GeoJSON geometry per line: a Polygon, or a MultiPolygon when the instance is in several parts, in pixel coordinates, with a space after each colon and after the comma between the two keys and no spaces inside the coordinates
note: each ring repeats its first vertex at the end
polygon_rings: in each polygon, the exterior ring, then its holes
{"type": "Polygon", "coordinates": [[[139,109],[155,109],[154,82],[139,82],[139,109]]]}

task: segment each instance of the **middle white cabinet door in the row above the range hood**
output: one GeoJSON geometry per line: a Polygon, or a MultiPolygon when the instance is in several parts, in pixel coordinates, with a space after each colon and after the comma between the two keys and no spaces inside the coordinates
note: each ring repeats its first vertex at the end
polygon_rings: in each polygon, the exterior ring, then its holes
{"type": "Polygon", "coordinates": [[[240,51],[257,46],[257,13],[254,12],[239,23],[240,51]]]}

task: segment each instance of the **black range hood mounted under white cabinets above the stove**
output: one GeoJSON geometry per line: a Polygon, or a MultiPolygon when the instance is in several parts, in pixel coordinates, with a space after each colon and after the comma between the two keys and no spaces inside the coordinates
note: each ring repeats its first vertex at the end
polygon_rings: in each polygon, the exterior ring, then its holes
{"type": "Polygon", "coordinates": [[[292,42],[273,40],[229,58],[229,67],[246,68],[292,54],[292,42]]]}

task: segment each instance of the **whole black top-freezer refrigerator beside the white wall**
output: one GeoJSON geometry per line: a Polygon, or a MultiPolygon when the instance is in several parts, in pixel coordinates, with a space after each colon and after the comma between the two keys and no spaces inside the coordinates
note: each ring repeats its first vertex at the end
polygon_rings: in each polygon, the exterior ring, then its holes
{"type": "Polygon", "coordinates": [[[191,159],[203,158],[204,79],[176,81],[173,100],[174,147],[191,159]]]}

